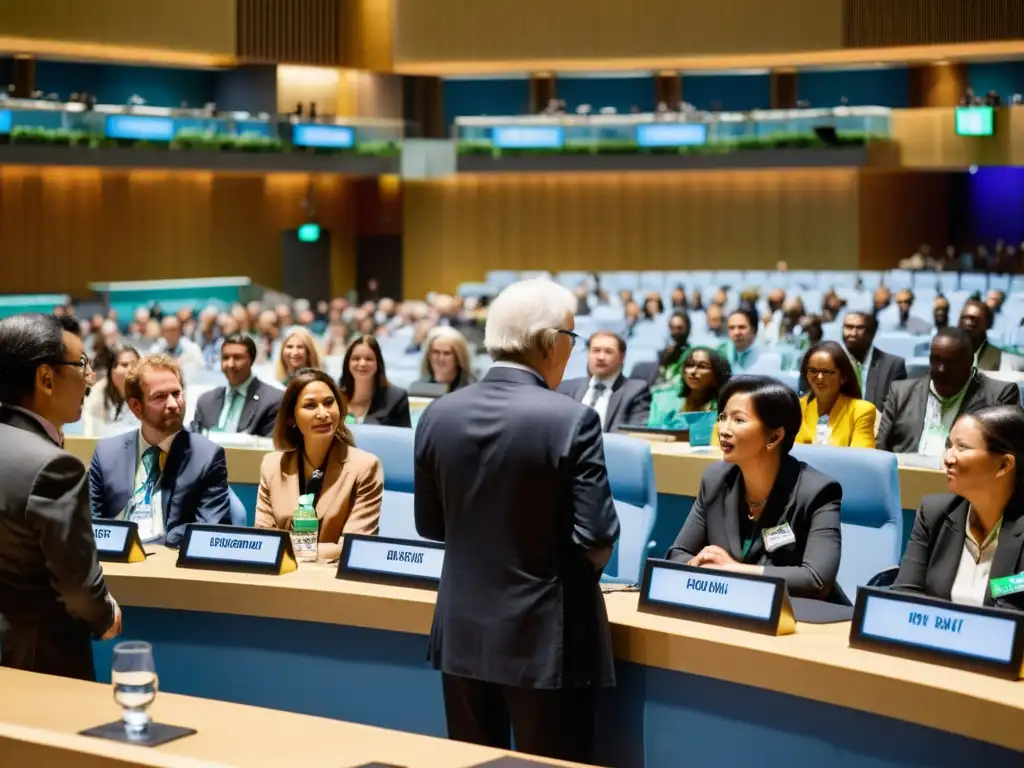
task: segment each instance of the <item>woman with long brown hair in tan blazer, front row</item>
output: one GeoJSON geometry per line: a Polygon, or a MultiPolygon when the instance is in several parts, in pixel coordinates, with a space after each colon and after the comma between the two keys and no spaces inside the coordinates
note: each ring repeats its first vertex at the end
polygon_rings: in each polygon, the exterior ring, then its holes
{"type": "Polygon", "coordinates": [[[256,527],[291,529],[299,496],[313,494],[321,560],[341,555],[343,535],[376,535],[380,528],[384,473],[376,456],[355,447],[345,410],[334,379],[323,371],[298,371],[278,413],[278,451],[267,454],[260,468],[256,527]],[[323,473],[318,490],[317,470],[323,473]]]}

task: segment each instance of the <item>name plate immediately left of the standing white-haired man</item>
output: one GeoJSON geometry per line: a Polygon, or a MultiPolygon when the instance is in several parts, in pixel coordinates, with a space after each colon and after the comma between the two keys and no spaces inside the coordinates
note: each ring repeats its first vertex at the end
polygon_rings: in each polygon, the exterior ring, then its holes
{"type": "Polygon", "coordinates": [[[341,548],[338,579],[437,589],[444,545],[349,534],[341,548]]]}

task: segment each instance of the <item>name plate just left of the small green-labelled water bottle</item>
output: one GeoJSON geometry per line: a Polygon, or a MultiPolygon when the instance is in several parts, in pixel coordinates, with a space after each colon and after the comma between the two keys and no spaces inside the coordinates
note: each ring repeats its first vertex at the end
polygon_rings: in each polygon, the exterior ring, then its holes
{"type": "Polygon", "coordinates": [[[287,530],[193,523],[181,540],[177,566],[278,575],[298,564],[287,530]]]}

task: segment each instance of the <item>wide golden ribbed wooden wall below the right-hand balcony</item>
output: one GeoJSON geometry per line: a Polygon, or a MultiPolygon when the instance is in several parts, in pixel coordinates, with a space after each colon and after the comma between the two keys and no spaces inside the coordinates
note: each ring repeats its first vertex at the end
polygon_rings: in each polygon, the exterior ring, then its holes
{"type": "Polygon", "coordinates": [[[848,169],[407,182],[406,295],[489,269],[852,269],[857,193],[848,169]]]}

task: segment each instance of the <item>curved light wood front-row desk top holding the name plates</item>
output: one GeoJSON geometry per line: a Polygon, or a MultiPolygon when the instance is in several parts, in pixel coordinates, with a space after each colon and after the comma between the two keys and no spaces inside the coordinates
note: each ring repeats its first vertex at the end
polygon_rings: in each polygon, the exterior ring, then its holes
{"type": "MultiPolygon", "coordinates": [[[[426,635],[434,593],[349,582],[328,565],[282,577],[176,568],[162,548],[144,563],[106,563],[124,605],[318,622],[426,635]]],[[[849,625],[800,625],[768,637],[637,611],[636,593],[606,596],[615,655],[626,662],[849,707],[1024,751],[1024,683],[849,647],[849,625]]],[[[2,710],[0,710],[2,712],[2,710]]],[[[2,717],[0,717],[2,719],[2,717]]]]}

